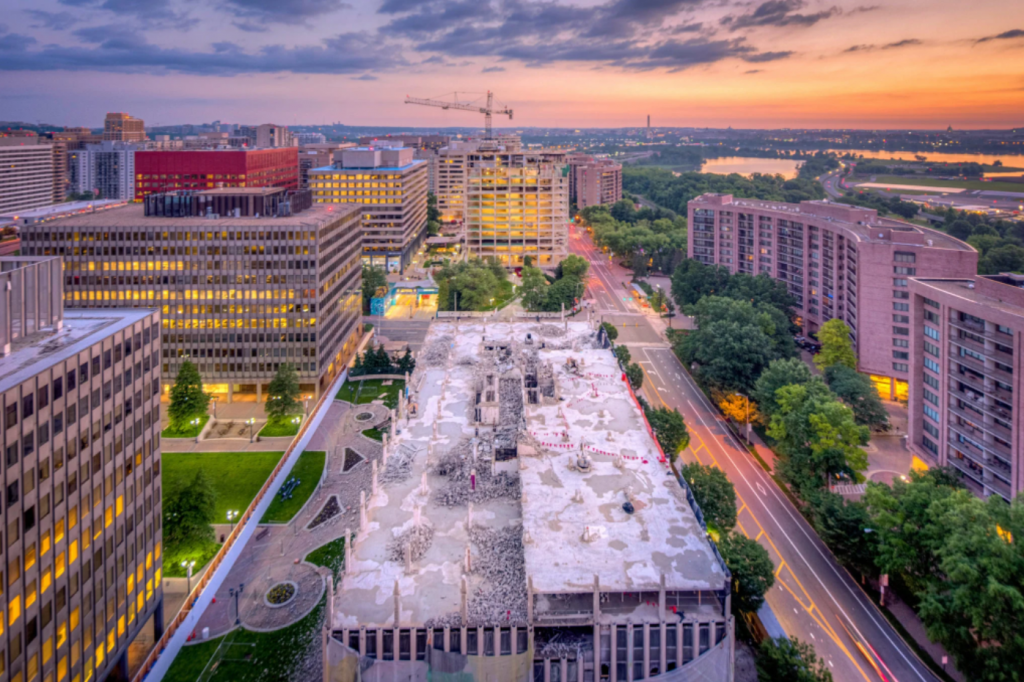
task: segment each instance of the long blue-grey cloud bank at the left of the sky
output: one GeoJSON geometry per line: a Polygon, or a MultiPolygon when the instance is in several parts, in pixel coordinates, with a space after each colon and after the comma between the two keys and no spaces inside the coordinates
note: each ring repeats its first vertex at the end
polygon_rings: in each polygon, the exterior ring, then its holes
{"type": "Polygon", "coordinates": [[[217,43],[213,52],[195,52],[153,45],[141,34],[101,31],[76,32],[98,43],[91,47],[46,45],[29,49],[34,38],[0,35],[0,69],[5,71],[106,71],[119,73],[183,73],[233,76],[247,73],[362,74],[403,66],[393,46],[368,34],[342,34],[321,45],[266,45],[245,52],[233,43],[217,43]]]}

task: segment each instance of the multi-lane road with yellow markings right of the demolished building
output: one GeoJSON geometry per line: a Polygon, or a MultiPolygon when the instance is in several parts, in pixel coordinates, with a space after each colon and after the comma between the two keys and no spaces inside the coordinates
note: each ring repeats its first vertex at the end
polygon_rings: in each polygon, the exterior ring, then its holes
{"type": "Polygon", "coordinates": [[[592,261],[589,293],[606,319],[636,319],[628,337],[634,360],[644,369],[644,393],[655,406],[675,408],[691,434],[687,461],[712,464],[729,476],[739,502],[737,528],[768,550],[776,566],[767,600],[786,634],[811,643],[837,682],[936,682],[937,678],[900,639],[885,616],[833,558],[776,483],[726,428],[647,315],[609,292],[625,291],[629,272],[599,256],[585,230],[573,227],[573,253],[592,261]],[[647,329],[644,330],[643,328],[647,329]],[[632,340],[636,339],[636,341],[632,340]],[[854,633],[872,647],[888,671],[883,678],[856,648],[854,633]]]}

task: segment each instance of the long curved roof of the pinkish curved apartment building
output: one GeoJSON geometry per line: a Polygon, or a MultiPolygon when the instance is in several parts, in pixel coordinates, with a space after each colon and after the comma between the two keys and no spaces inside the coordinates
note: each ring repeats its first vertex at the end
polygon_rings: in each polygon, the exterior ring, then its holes
{"type": "Polygon", "coordinates": [[[902,220],[880,218],[878,211],[849,204],[838,204],[828,201],[801,202],[787,204],[785,202],[770,202],[760,199],[737,199],[731,195],[703,194],[693,199],[691,203],[711,203],[717,206],[728,206],[738,209],[749,208],[759,211],[787,213],[805,220],[816,220],[820,223],[839,225],[850,232],[858,242],[915,244],[927,245],[936,249],[951,249],[954,251],[974,251],[974,247],[966,242],[931,227],[922,227],[902,220]]]}

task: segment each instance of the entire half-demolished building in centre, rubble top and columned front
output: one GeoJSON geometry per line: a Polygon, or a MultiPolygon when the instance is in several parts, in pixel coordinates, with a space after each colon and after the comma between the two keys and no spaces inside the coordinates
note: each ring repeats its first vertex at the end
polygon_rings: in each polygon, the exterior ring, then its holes
{"type": "Polygon", "coordinates": [[[596,323],[435,323],[360,466],[325,679],[732,680],[729,573],[596,323]]]}

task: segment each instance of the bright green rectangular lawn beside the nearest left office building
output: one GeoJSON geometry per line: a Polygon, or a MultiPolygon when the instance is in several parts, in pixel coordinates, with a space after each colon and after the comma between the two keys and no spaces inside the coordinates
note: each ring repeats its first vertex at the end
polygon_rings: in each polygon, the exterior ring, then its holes
{"type": "Polygon", "coordinates": [[[214,519],[217,523],[226,523],[227,510],[244,512],[249,507],[282,455],[283,452],[164,453],[161,457],[164,502],[171,491],[190,480],[202,468],[217,494],[214,519]]]}

